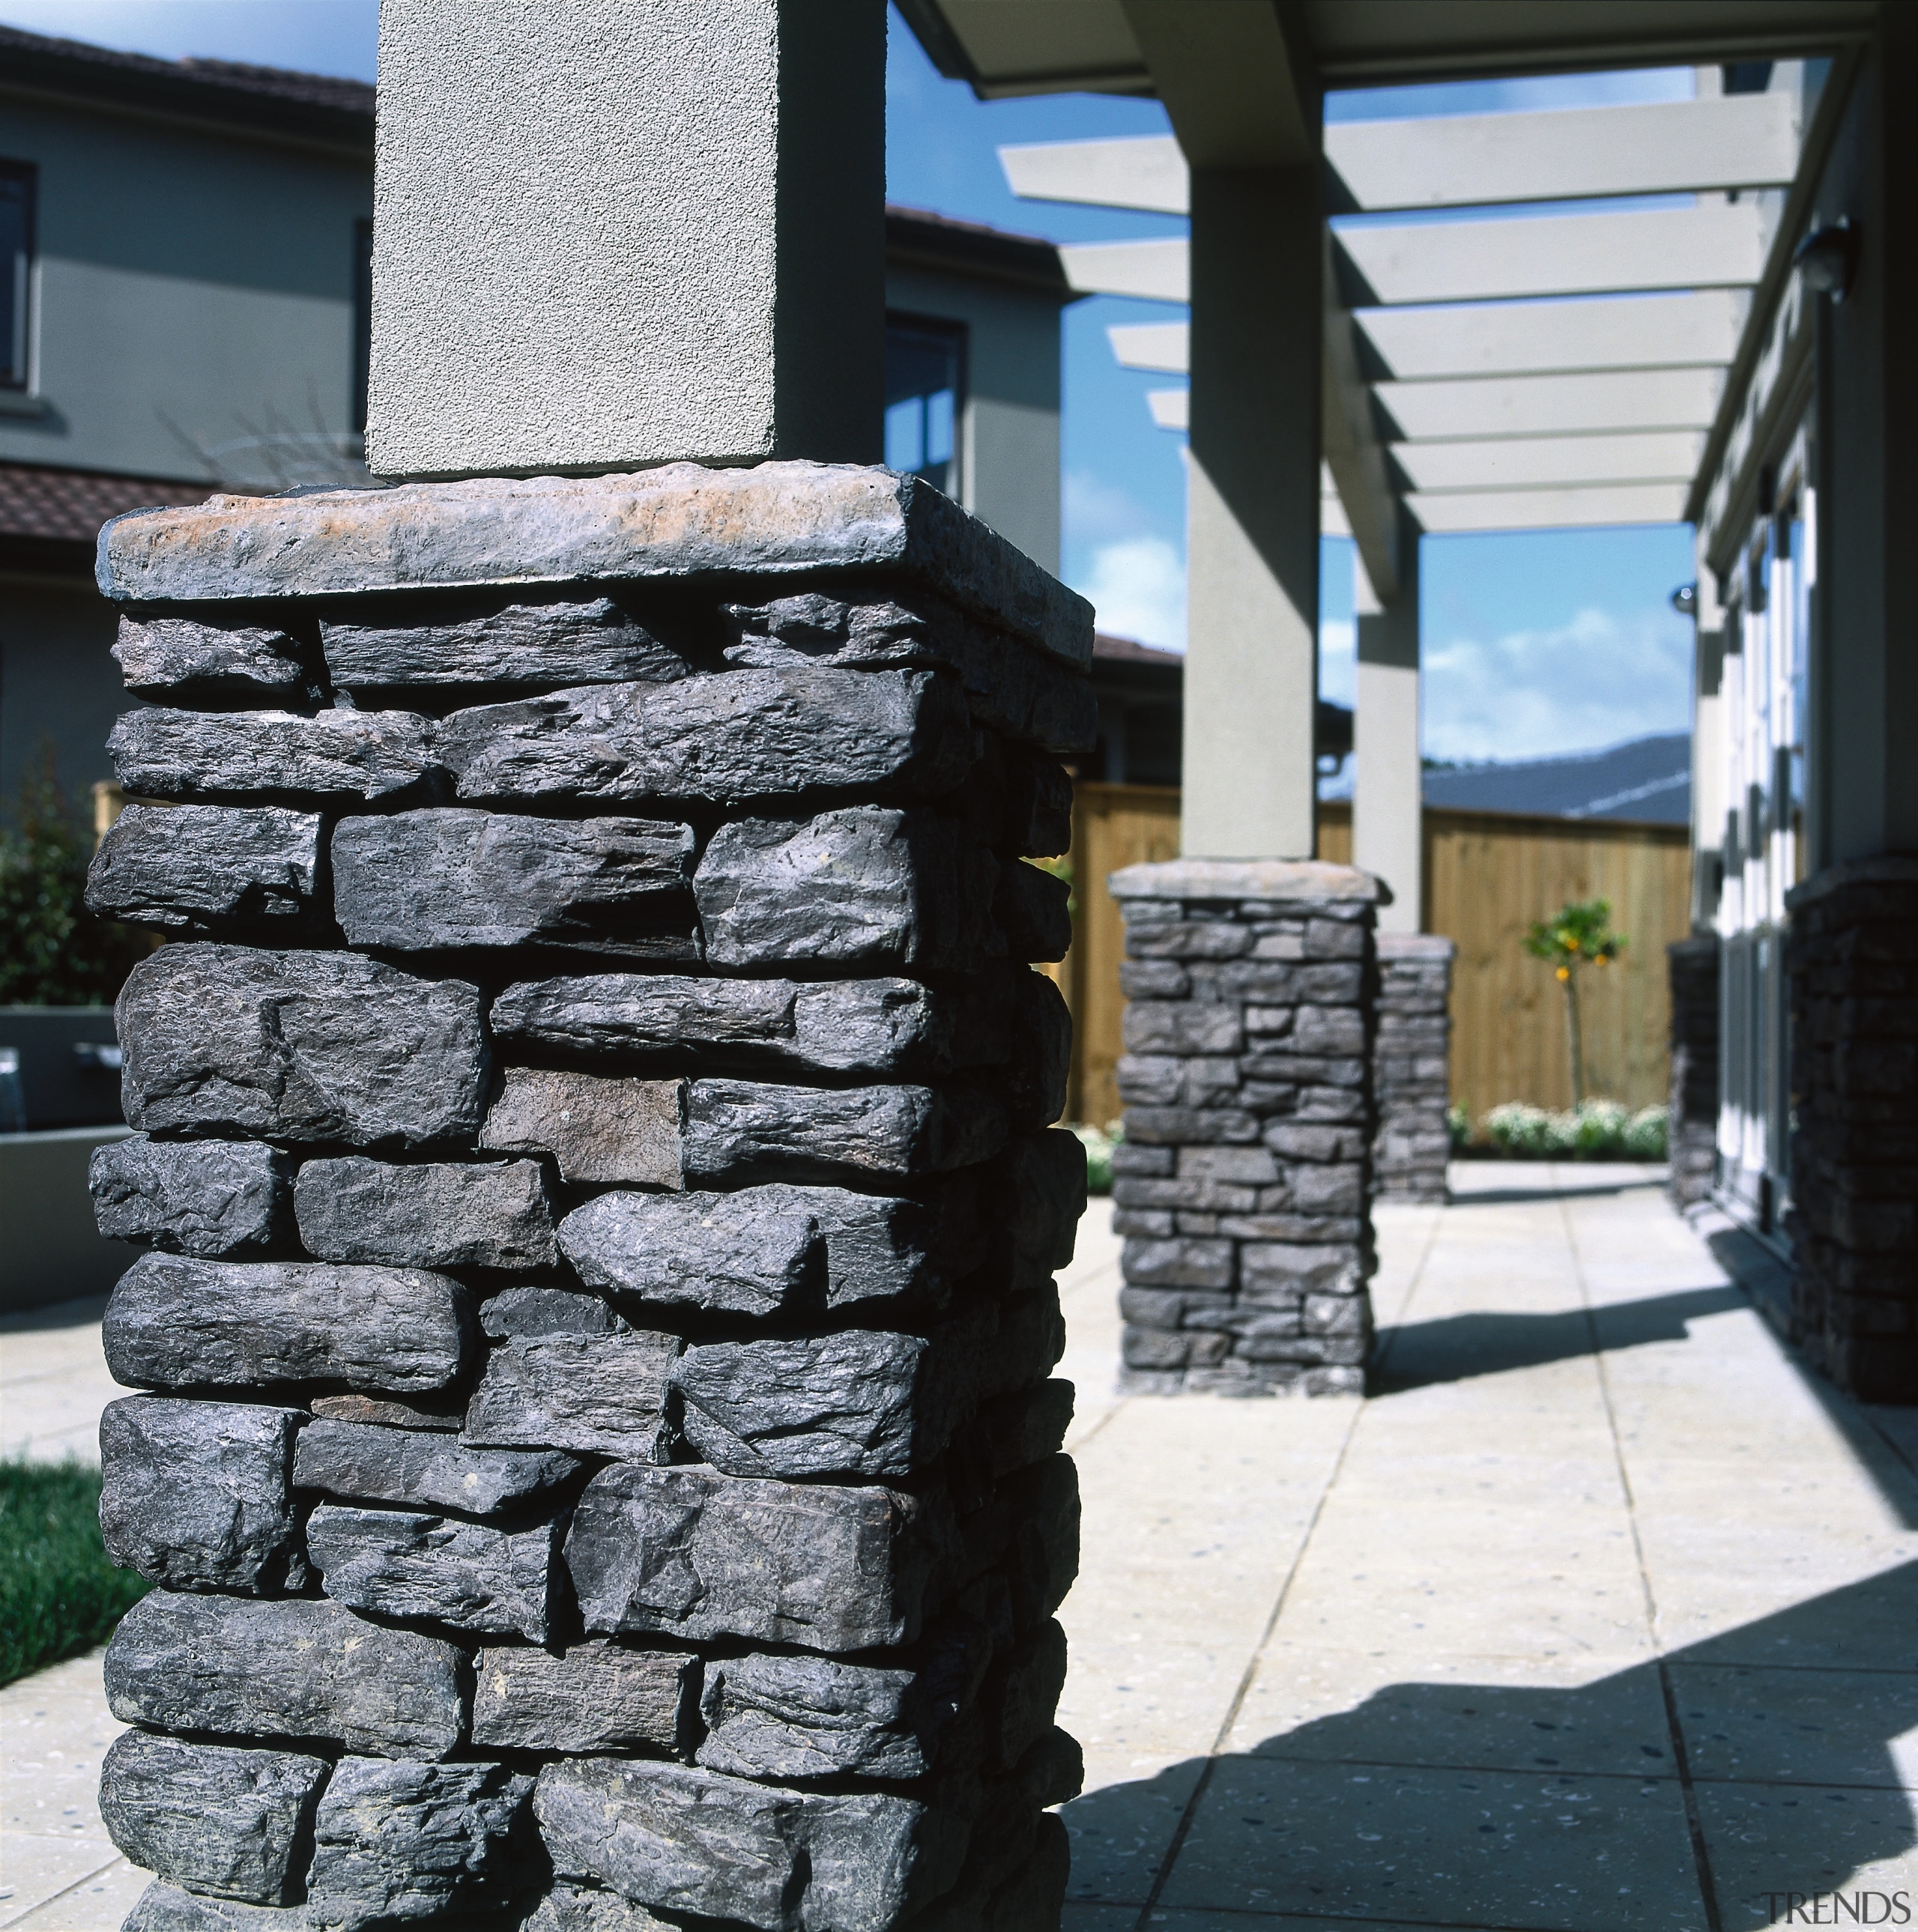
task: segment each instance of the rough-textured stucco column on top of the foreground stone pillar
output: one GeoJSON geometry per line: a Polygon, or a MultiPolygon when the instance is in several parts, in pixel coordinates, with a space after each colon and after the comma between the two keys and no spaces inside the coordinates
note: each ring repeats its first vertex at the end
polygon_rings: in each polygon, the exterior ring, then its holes
{"type": "Polygon", "coordinates": [[[384,0],[381,475],[877,462],[881,0],[384,0]]]}

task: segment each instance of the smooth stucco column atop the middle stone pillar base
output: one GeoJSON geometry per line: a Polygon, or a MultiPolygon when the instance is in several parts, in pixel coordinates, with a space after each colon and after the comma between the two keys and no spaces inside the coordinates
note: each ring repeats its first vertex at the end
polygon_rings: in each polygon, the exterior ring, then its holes
{"type": "Polygon", "coordinates": [[[1310,858],[1319,688],[1317,168],[1192,170],[1182,848],[1310,858]]]}

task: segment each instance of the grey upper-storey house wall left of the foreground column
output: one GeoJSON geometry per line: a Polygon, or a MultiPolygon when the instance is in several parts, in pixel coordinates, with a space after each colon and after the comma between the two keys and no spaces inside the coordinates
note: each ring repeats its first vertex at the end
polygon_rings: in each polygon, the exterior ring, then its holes
{"type": "Polygon", "coordinates": [[[0,462],[272,489],[313,460],[286,439],[352,433],[371,151],[6,97],[0,156],[39,170],[33,384],[0,396],[0,462]]]}

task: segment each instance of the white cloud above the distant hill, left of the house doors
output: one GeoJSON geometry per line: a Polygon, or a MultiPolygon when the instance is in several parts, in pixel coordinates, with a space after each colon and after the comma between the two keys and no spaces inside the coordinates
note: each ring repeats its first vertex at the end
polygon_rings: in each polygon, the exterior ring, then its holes
{"type": "Polygon", "coordinates": [[[1427,757],[1557,757],[1690,730],[1690,638],[1663,611],[1580,611],[1557,630],[1424,651],[1427,757]]]}

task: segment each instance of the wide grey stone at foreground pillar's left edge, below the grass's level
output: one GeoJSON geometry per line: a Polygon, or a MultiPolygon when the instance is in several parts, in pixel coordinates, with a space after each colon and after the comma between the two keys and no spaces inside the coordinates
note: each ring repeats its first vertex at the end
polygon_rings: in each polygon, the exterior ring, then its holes
{"type": "Polygon", "coordinates": [[[465,1725],[464,1673],[452,1644],[342,1604],[153,1590],[106,1646],[106,1702],[122,1723],[162,1731],[444,1758],[465,1725]]]}

